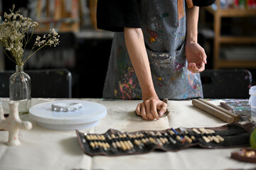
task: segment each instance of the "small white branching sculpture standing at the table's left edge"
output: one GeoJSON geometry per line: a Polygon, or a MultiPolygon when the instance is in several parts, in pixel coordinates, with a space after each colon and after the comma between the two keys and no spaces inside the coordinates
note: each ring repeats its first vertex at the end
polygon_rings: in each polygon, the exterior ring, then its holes
{"type": "Polygon", "coordinates": [[[4,118],[4,109],[0,104],[0,128],[9,131],[9,140],[6,145],[17,146],[21,142],[18,140],[18,131],[30,130],[32,123],[28,121],[22,121],[18,116],[18,102],[9,101],[10,113],[8,118],[4,118]]]}

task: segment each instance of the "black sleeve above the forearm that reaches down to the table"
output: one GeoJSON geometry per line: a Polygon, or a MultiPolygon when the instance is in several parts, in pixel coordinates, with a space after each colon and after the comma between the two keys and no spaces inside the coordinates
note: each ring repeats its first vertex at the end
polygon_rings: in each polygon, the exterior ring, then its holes
{"type": "Polygon", "coordinates": [[[138,0],[98,0],[97,28],[113,32],[141,28],[138,10],[138,0]]]}

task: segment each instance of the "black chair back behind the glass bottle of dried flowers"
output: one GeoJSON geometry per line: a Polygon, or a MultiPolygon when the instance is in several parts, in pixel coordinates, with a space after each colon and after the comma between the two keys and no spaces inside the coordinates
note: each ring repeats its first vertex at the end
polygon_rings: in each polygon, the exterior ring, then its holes
{"type": "MultiPolygon", "coordinates": [[[[72,75],[68,69],[28,69],[32,98],[71,98],[72,75]]],[[[9,97],[12,70],[0,72],[0,97],[9,97]]]]}

